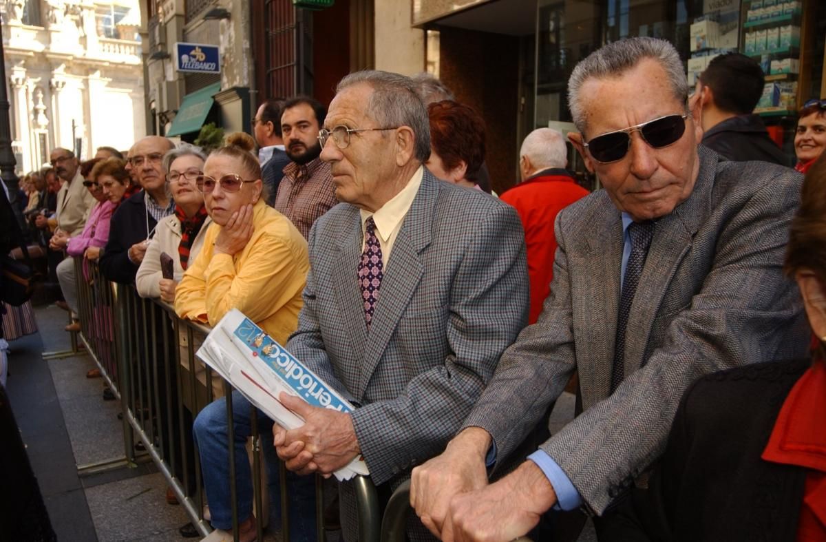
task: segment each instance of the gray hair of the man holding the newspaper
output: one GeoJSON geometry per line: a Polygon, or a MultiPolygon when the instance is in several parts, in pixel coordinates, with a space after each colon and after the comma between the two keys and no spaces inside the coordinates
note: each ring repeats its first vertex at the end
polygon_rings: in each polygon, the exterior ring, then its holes
{"type": "Polygon", "coordinates": [[[413,80],[405,75],[365,69],[341,79],[335,92],[357,84],[373,88],[367,114],[373,116],[377,127],[409,126],[415,138],[415,159],[425,162],[430,157],[430,119],[413,80]]]}

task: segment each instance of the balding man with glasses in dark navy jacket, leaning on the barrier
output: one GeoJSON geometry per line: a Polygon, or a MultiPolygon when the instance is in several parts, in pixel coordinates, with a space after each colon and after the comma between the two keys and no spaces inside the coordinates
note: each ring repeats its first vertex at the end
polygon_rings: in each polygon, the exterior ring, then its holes
{"type": "Polygon", "coordinates": [[[135,273],[158,222],[175,212],[162,160],[173,148],[172,141],[149,135],[129,151],[130,175],[134,175],[140,192],[124,200],[112,215],[109,241],[100,260],[103,276],[116,283],[135,282],[135,273]]]}

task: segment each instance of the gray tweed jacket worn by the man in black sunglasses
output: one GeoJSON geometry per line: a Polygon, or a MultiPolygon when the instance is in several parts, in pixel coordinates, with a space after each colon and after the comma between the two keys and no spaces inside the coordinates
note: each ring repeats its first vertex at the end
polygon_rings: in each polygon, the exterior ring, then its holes
{"type": "Polygon", "coordinates": [[[610,394],[623,252],[604,190],[560,212],[542,316],[502,355],[464,426],[481,426],[499,462],[579,370],[584,411],[541,445],[601,513],[662,454],[677,403],[702,374],[794,359],[809,343],[800,292],[781,266],[802,176],[725,162],[700,146],[691,196],[657,221],[610,394]]]}

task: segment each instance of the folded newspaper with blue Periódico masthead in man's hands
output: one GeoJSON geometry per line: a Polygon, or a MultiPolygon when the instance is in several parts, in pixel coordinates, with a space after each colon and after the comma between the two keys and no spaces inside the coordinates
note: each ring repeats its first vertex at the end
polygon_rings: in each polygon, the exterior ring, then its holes
{"type": "MultiPolygon", "coordinates": [[[[303,426],[304,420],[278,401],[281,392],[301,397],[312,406],[353,411],[353,405],[241,311],[227,312],[197,354],[249,402],[286,429],[303,426]]],[[[335,471],[335,478],[349,480],[356,474],[369,474],[361,456],[335,471]]]]}

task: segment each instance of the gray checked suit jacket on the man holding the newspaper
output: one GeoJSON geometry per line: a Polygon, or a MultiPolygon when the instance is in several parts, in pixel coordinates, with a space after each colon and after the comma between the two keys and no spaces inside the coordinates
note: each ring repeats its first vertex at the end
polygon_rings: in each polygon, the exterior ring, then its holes
{"type": "MultiPolygon", "coordinates": [[[[353,423],[371,478],[396,487],[444,450],[525,326],[525,235],[514,209],[424,172],[382,279],[368,334],[358,288],[358,208],[341,203],[310,239],[311,270],[292,354],[361,405],[353,423]]],[[[354,540],[350,483],[340,484],[354,540]]],[[[411,532],[419,539],[427,533],[411,532]]]]}

